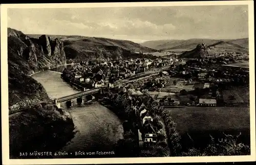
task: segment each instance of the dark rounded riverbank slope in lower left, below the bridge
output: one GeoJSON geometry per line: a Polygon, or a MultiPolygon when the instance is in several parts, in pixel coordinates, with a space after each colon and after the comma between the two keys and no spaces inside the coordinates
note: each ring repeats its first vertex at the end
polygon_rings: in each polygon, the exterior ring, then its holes
{"type": "Polygon", "coordinates": [[[41,103],[28,111],[9,116],[10,158],[52,158],[20,156],[20,152],[55,152],[74,137],[74,123],[67,111],[41,103]]]}

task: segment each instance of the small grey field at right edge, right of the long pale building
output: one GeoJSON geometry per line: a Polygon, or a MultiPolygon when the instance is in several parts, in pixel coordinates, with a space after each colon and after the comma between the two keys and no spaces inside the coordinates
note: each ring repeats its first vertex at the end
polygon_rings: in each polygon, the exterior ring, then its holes
{"type": "Polygon", "coordinates": [[[223,101],[226,103],[248,103],[249,89],[245,87],[230,87],[222,91],[223,101]]]}

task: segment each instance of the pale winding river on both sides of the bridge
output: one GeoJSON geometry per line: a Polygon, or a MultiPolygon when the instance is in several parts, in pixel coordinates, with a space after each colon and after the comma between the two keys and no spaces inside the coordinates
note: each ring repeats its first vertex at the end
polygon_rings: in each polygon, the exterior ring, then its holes
{"type": "MultiPolygon", "coordinates": [[[[47,70],[32,76],[45,87],[50,98],[78,92],[60,78],[58,72],[63,68],[65,67],[61,66],[51,69],[53,72],[47,70]]],[[[75,152],[112,151],[114,144],[123,138],[122,122],[111,110],[98,102],[78,106],[74,101],[72,108],[66,108],[65,104],[62,104],[61,108],[70,112],[76,132],[74,138],[60,150],[72,153],[72,156],[69,154],[67,157],[97,157],[96,155],[75,156],[75,152]]]]}

